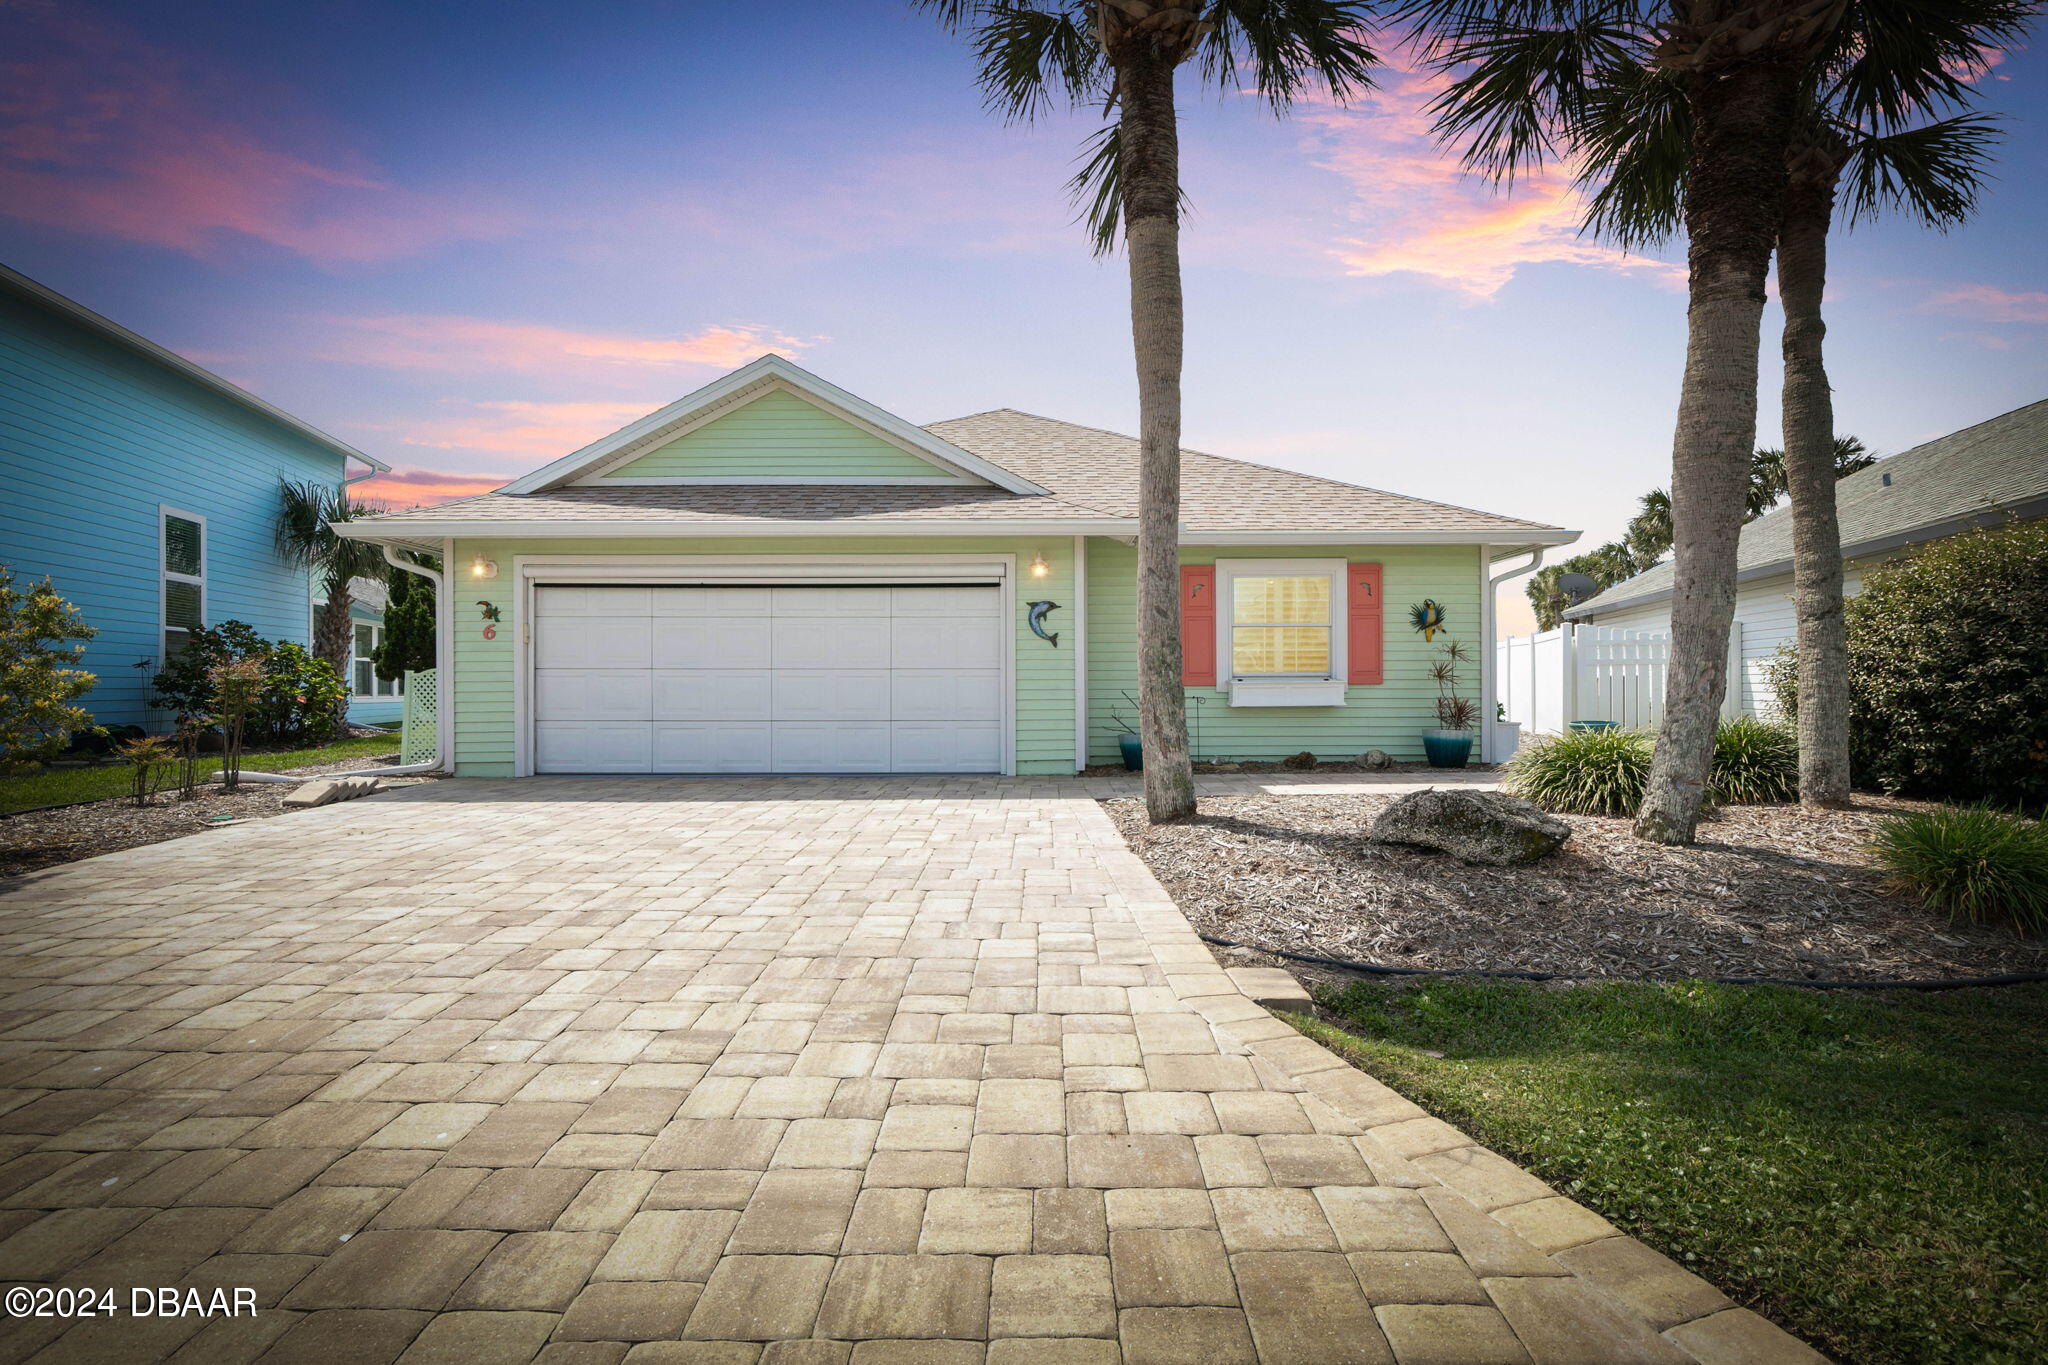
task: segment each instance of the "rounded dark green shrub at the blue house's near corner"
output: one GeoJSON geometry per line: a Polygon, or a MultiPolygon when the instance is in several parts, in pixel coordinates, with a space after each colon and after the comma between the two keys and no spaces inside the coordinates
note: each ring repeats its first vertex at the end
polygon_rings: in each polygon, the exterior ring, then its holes
{"type": "Polygon", "coordinates": [[[238,659],[264,661],[262,690],[244,720],[250,743],[309,745],[334,737],[346,698],[342,675],[303,645],[264,641],[242,620],[193,630],[184,649],[152,679],[154,704],[172,712],[180,724],[215,724],[219,696],[213,671],[238,659]]]}

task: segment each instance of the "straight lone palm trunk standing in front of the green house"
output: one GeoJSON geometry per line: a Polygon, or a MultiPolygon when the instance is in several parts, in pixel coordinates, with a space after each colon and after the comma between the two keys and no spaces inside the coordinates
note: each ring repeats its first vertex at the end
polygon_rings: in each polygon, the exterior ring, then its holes
{"type": "Polygon", "coordinates": [[[1116,68],[1130,342],[1139,368],[1139,733],[1145,812],[1194,814],[1180,684],[1180,129],[1174,55],[1133,43],[1116,68]]]}

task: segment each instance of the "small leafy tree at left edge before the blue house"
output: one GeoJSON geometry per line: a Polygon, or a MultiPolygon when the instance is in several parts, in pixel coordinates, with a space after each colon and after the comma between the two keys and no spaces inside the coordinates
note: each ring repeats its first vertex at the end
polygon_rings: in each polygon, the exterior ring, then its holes
{"type": "Polygon", "coordinates": [[[43,579],[29,591],[0,567],[0,767],[41,763],[96,729],[78,698],[96,675],[72,667],[98,630],[43,579]]]}

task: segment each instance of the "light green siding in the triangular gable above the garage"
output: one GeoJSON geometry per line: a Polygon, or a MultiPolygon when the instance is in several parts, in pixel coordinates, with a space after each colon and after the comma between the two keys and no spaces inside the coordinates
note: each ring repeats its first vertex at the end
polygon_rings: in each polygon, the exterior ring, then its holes
{"type": "Polygon", "coordinates": [[[930,479],[938,467],[872,432],[772,389],[717,422],[657,446],[612,479],[930,479]]]}

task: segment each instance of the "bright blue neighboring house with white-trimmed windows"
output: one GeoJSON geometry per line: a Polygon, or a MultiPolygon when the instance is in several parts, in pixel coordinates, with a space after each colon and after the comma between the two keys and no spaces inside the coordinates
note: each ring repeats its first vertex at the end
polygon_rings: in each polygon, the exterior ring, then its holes
{"type": "MultiPolygon", "coordinates": [[[[150,677],[193,626],[246,620],[305,645],[313,585],[279,559],[281,481],[389,469],[219,375],[0,266],[0,565],[49,577],[98,636],[84,698],[102,724],[164,729],[150,677]]],[[[383,583],[356,579],[356,641],[383,583]]],[[[395,720],[393,684],[350,661],[350,720],[395,720]],[[367,692],[360,688],[367,686],[367,692]]]]}

